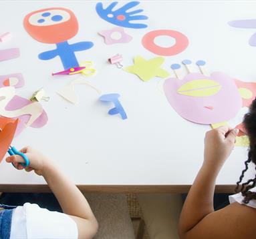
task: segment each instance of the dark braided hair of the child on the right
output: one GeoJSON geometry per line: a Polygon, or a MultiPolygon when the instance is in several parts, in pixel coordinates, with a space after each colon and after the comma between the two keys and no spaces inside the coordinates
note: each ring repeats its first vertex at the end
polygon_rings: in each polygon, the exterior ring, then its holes
{"type": "Polygon", "coordinates": [[[245,172],[248,169],[248,164],[253,162],[255,164],[256,170],[256,99],[251,103],[249,113],[247,113],[243,119],[243,124],[245,126],[245,130],[247,131],[247,135],[249,136],[250,146],[248,152],[248,159],[245,161],[245,169],[242,171],[241,176],[239,177],[239,181],[237,182],[237,187],[235,188],[235,192],[239,192],[239,188],[241,194],[243,195],[243,203],[247,204],[250,200],[256,199],[256,192],[251,192],[250,189],[256,186],[256,174],[255,178],[247,180],[240,185],[245,176],[245,172]]]}

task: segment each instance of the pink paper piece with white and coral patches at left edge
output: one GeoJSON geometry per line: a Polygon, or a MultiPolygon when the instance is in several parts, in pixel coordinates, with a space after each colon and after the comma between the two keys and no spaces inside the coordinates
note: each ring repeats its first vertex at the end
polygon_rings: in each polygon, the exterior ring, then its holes
{"type": "Polygon", "coordinates": [[[23,87],[25,85],[23,75],[21,73],[0,75],[0,87],[23,87]]]}

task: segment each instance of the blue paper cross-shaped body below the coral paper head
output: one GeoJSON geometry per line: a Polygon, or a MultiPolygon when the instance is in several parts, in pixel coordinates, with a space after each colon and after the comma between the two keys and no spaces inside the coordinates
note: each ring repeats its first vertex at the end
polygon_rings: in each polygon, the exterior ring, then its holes
{"type": "Polygon", "coordinates": [[[56,49],[40,53],[38,58],[40,60],[49,60],[59,56],[64,69],[68,70],[72,67],[79,67],[75,52],[90,49],[93,45],[94,43],[91,41],[81,41],[80,43],[74,43],[71,45],[68,41],[63,41],[63,43],[56,44],[56,49]]]}

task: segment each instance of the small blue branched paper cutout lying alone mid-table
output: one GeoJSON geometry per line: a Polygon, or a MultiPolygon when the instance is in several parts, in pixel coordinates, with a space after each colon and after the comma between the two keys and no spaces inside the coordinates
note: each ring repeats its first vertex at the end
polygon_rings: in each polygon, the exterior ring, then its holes
{"type": "Polygon", "coordinates": [[[120,97],[119,94],[106,94],[106,95],[102,95],[100,97],[100,101],[105,101],[105,102],[112,102],[114,103],[114,108],[110,109],[110,111],[108,111],[109,115],[117,115],[120,114],[122,119],[127,119],[127,115],[124,111],[124,108],[122,107],[120,101],[118,100],[118,98],[120,97]]]}

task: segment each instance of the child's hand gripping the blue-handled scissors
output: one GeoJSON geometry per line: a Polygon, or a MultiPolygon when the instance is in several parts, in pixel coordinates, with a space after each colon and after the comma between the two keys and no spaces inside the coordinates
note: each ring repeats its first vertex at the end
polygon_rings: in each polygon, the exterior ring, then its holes
{"type": "MultiPolygon", "coordinates": [[[[47,157],[29,146],[22,148],[20,151],[26,154],[27,158],[29,159],[30,164],[27,168],[25,168],[27,172],[35,170],[36,174],[43,175],[45,168],[51,165],[51,161],[47,157]]],[[[6,162],[12,162],[15,168],[19,170],[24,168],[21,164],[19,164],[20,162],[24,162],[23,158],[19,155],[7,157],[6,162]]]]}

